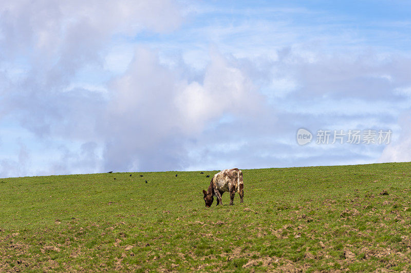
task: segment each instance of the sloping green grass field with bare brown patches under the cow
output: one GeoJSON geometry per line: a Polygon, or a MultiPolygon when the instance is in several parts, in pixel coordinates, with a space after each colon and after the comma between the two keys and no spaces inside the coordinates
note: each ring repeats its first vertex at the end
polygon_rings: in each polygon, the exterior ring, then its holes
{"type": "Polygon", "coordinates": [[[0,271],[411,270],[411,163],[242,171],[0,179],[0,271]]]}

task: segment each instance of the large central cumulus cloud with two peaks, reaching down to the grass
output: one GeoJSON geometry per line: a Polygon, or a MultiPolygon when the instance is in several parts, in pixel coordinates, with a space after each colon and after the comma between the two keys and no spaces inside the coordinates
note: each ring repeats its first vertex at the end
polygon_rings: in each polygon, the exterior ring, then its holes
{"type": "Polygon", "coordinates": [[[189,161],[186,143],[211,121],[263,107],[248,76],[218,53],[212,53],[202,82],[188,82],[153,51],[138,48],[110,89],[99,124],[107,168],[181,169],[189,161]]]}

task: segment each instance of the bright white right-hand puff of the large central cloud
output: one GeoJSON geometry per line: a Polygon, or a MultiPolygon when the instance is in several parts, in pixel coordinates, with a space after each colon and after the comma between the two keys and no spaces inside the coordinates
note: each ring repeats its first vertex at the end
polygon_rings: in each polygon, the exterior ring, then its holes
{"type": "Polygon", "coordinates": [[[204,73],[203,84],[193,82],[176,97],[182,130],[200,132],[208,121],[222,114],[252,114],[262,106],[262,97],[239,68],[216,52],[204,73]]]}

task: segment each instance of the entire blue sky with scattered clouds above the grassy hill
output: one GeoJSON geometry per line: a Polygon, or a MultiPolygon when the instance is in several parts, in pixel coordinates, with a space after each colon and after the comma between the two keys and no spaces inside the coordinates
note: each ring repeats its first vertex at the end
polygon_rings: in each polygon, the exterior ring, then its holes
{"type": "Polygon", "coordinates": [[[0,178],[411,161],[410,10],[2,1],[0,178]]]}

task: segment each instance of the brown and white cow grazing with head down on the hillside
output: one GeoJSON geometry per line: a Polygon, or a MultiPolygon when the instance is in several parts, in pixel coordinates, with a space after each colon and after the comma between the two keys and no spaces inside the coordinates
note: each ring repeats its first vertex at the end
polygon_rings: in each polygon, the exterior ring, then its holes
{"type": "Polygon", "coordinates": [[[204,193],[204,201],[206,207],[210,207],[213,204],[214,196],[217,197],[217,205],[222,205],[221,196],[224,192],[230,192],[230,205],[234,202],[235,193],[240,195],[240,203],[243,203],[242,197],[244,197],[244,183],[242,182],[242,171],[237,168],[222,170],[219,173],[214,174],[211,179],[208,190],[202,190],[204,193]]]}

